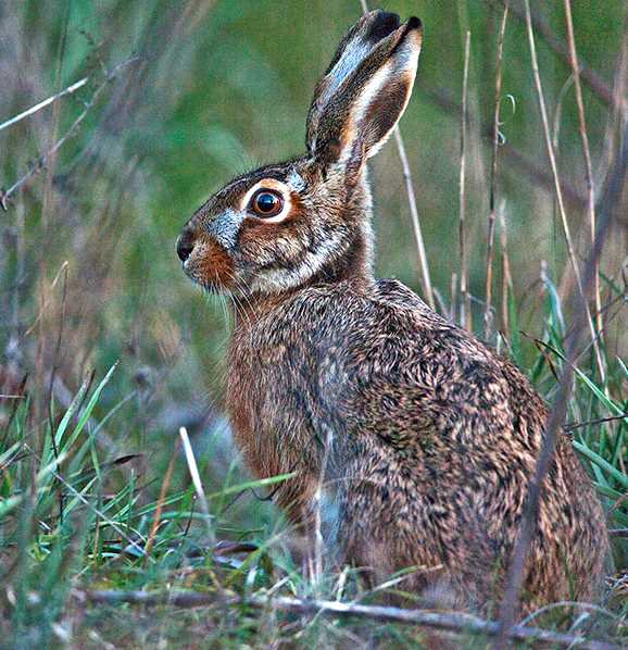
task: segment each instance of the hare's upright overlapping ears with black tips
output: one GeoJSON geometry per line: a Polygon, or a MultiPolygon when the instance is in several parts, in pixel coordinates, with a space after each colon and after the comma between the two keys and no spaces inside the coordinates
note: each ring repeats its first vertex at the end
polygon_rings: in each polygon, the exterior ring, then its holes
{"type": "Polygon", "coordinates": [[[377,10],[357,21],[314,90],[310,154],[356,167],[377,153],[407,105],[419,51],[416,17],[401,25],[398,15],[377,10]]]}

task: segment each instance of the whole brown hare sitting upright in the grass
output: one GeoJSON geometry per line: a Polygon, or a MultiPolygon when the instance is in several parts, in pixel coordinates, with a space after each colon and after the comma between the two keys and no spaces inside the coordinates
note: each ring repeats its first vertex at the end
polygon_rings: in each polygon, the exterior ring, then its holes
{"type": "MultiPolygon", "coordinates": [[[[547,408],[511,362],[373,276],[366,163],[407,105],[420,43],[416,17],[361,17],[316,85],[307,153],[226,185],[177,253],[194,283],[233,297],[228,416],[256,476],[293,474],[274,493],[291,522],[321,529],[337,562],[372,579],[415,567],[416,593],[444,587],[486,610],[503,589],[547,408]]],[[[607,546],[563,435],[523,611],[593,598],[607,546]]]]}

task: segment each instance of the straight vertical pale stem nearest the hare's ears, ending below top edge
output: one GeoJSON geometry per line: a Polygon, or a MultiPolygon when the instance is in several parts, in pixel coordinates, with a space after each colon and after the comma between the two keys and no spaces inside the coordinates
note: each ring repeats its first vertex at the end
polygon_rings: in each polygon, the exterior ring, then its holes
{"type": "Polygon", "coordinates": [[[467,30],[464,43],[464,75],[462,84],[462,113],[460,128],[460,177],[459,177],[459,250],[460,250],[460,324],[472,330],[470,300],[468,295],[467,259],[465,241],[465,208],[466,208],[466,127],[467,127],[467,97],[468,97],[468,64],[470,50],[470,32],[467,30]]]}

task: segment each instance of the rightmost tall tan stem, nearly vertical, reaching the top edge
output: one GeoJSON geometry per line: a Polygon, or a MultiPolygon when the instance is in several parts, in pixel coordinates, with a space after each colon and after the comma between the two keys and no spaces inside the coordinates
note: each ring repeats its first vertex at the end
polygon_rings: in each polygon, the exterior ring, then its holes
{"type": "MultiPolygon", "coordinates": [[[[595,240],[595,185],[593,183],[593,166],[591,164],[591,151],[589,149],[589,135],[587,133],[587,120],[585,117],[585,102],[582,101],[582,87],[580,85],[580,67],[578,54],[576,53],[576,39],[574,37],[574,22],[572,20],[572,0],[564,0],[565,23],[567,26],[567,43],[569,46],[569,62],[574,77],[574,90],[576,92],[576,105],[578,108],[578,130],[582,142],[582,155],[585,157],[585,171],[587,174],[587,212],[589,213],[589,238],[593,246],[595,240]]],[[[600,291],[600,265],[595,264],[593,278],[593,298],[595,300],[595,328],[602,332],[602,296],[600,291]]]]}

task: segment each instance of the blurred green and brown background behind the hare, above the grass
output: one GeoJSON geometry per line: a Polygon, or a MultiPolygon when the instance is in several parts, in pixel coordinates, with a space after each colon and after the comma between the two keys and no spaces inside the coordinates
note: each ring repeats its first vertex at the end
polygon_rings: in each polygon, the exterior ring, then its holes
{"type": "MultiPolygon", "coordinates": [[[[380,4],[404,17],[418,15],[425,27],[417,82],[401,130],[432,282],[445,311],[452,274],[460,277],[459,107],[464,35],[470,30],[466,238],[474,327],[481,333],[491,160],[487,134],[503,5],[479,0],[380,4]]],[[[555,283],[564,297],[570,274],[520,20],[523,5],[515,1],[512,7],[503,54],[497,200],[504,208],[519,325],[537,336],[545,323],[536,309],[548,286],[539,278],[555,283]]],[[[2,364],[10,378],[28,375],[38,417],[43,417],[50,392],[63,405],[63,388],[74,393],[90,368],[102,376],[121,360],[103,396],[109,409],[126,400],[109,425],[118,449],[142,451],[148,458],[162,449],[169,453],[180,424],[205,430],[209,421],[219,421],[226,314],[218,298],[203,296],[184,277],[175,239],[191,212],[233,176],[304,150],[314,84],[360,12],[357,0],[0,4],[0,123],[89,77],[76,93],[0,132],[4,189],[37,164],[105,76],[124,64],[56,155],[0,213],[2,364]]],[[[551,47],[553,38],[565,48],[563,3],[536,1],[532,12],[542,22],[536,33],[539,65],[568,217],[585,255],[585,166],[573,79],[564,57],[551,47]]],[[[625,101],[626,4],[578,0],[573,12],[579,57],[594,71],[594,88],[583,80],[583,92],[600,189],[625,120],[612,96],[625,101]]],[[[377,273],[418,290],[416,248],[393,141],[373,161],[372,178],[377,273]]],[[[498,226],[495,330],[504,325],[499,309],[500,238],[498,226]]],[[[602,268],[615,287],[626,241],[625,229],[614,232],[603,258],[602,268]]],[[[611,292],[608,283],[603,283],[603,301],[611,292]]],[[[620,316],[608,324],[611,358],[625,352],[624,323],[620,316]]],[[[525,365],[533,346],[527,340],[522,345],[525,365]]],[[[8,412],[4,409],[4,418],[8,412]]],[[[227,438],[224,445],[228,450],[227,438]]],[[[229,453],[224,458],[230,459],[229,453]]]]}

